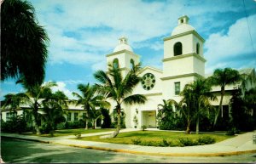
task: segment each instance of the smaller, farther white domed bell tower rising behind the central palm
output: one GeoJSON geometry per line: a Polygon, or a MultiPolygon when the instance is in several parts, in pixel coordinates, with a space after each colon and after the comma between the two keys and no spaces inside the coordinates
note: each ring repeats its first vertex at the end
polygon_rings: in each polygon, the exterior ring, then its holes
{"type": "Polygon", "coordinates": [[[132,65],[137,65],[140,62],[139,55],[133,53],[126,37],[120,37],[119,44],[113,49],[113,53],[107,54],[106,57],[107,71],[108,65],[119,67],[123,77],[131,70],[132,65]]]}

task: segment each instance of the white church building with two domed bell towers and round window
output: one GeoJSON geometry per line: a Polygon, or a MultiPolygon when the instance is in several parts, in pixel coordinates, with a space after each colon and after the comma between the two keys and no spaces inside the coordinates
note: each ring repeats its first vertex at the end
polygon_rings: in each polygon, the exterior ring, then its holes
{"type": "MultiPolygon", "coordinates": [[[[189,17],[184,15],[178,18],[177,26],[172,31],[171,36],[164,39],[164,56],[162,59],[163,70],[146,66],[139,72],[142,77],[134,89],[133,93],[143,94],[148,101],[144,105],[122,105],[125,110],[126,127],[158,127],[156,115],[158,105],[163,104],[163,99],[175,99],[180,101],[179,93],[189,82],[193,82],[198,77],[205,76],[206,59],[203,55],[203,43],[205,40],[189,25],[189,17]],[[138,124],[133,121],[137,116],[138,124]]],[[[113,49],[113,53],[107,54],[107,65],[118,65],[125,76],[131,65],[140,62],[140,56],[135,54],[127,42],[127,38],[119,38],[119,45],[113,49]]],[[[108,66],[107,66],[108,70],[108,66]]],[[[249,69],[248,73],[255,74],[254,69],[249,69]]],[[[234,86],[227,86],[227,90],[233,90],[234,86]]],[[[213,92],[220,98],[220,88],[213,87],[213,92]]],[[[224,97],[223,106],[226,113],[229,113],[229,102],[231,92],[227,91],[224,97]]],[[[218,105],[219,101],[212,102],[218,105]]],[[[115,106],[112,102],[112,106],[115,106]]],[[[223,110],[221,115],[223,116],[223,110]]]]}

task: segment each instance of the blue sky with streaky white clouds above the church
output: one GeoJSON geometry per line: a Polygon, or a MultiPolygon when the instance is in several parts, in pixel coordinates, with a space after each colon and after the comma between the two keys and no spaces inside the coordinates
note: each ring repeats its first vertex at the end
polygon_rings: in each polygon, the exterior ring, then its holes
{"type": "MultiPolygon", "coordinates": [[[[163,38],[177,19],[205,39],[206,74],[214,69],[256,68],[256,0],[28,0],[49,37],[45,82],[56,82],[73,99],[79,83],[93,84],[93,73],[106,70],[106,54],[119,37],[128,38],[143,66],[162,70],[163,38]]],[[[0,99],[24,92],[15,79],[1,82],[0,99]]]]}

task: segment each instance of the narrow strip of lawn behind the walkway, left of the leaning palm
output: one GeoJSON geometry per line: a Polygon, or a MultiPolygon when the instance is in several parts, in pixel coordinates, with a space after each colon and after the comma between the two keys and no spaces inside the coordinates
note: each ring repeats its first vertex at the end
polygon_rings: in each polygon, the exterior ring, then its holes
{"type": "MultiPolygon", "coordinates": [[[[110,132],[114,131],[113,128],[102,128],[102,129],[87,129],[85,130],[84,128],[77,128],[77,129],[63,129],[63,130],[55,130],[54,137],[61,137],[61,136],[68,136],[68,135],[74,135],[75,133],[101,133],[101,132],[110,132]]],[[[34,133],[22,133],[25,135],[37,135],[34,133]]],[[[40,137],[50,137],[50,134],[41,134],[37,135],[40,137]]]]}

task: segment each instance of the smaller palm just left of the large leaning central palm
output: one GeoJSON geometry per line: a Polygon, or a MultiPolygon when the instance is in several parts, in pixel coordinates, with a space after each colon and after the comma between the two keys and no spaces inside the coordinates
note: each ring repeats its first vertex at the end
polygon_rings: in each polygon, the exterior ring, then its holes
{"type": "Polygon", "coordinates": [[[78,85],[79,91],[82,93],[74,93],[73,96],[77,97],[78,100],[73,100],[75,105],[82,105],[85,110],[85,129],[88,129],[88,121],[89,121],[89,110],[95,109],[96,107],[108,107],[109,103],[104,100],[104,96],[96,93],[96,86],[90,86],[88,83],[87,85],[79,84],[78,85]]]}

